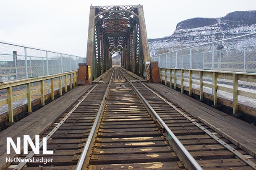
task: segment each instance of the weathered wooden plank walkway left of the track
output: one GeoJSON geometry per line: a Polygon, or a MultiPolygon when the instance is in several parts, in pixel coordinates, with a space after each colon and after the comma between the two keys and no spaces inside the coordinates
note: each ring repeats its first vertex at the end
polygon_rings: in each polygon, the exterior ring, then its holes
{"type": "MultiPolygon", "coordinates": [[[[68,91],[63,96],[45,105],[33,114],[21,119],[12,126],[0,132],[0,169],[8,167],[6,157],[14,158],[18,155],[11,149],[11,154],[6,153],[6,137],[21,137],[21,153],[23,152],[23,135],[28,134],[32,140],[35,135],[44,133],[60,115],[65,112],[75,101],[77,101],[92,85],[78,86],[68,91]]],[[[15,142],[16,143],[16,142],[15,142]]]]}

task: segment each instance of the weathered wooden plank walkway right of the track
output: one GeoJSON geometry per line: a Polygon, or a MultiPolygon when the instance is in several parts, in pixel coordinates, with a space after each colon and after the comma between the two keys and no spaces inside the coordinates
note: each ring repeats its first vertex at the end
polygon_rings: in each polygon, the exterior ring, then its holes
{"type": "Polygon", "coordinates": [[[236,119],[163,84],[146,84],[172,103],[256,157],[256,127],[236,119]]]}

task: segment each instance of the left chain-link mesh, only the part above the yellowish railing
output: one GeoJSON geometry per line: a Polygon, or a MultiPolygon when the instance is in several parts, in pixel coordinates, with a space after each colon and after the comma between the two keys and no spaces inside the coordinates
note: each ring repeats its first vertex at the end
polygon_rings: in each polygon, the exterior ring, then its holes
{"type": "Polygon", "coordinates": [[[78,69],[85,58],[0,42],[0,82],[78,69]]]}

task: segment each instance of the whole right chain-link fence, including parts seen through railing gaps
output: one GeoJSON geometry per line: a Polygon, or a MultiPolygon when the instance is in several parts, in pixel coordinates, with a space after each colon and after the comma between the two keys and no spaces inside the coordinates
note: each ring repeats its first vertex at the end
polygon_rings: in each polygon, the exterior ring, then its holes
{"type": "MultiPolygon", "coordinates": [[[[256,73],[256,33],[251,33],[221,41],[214,41],[198,46],[191,46],[177,51],[152,56],[151,61],[158,61],[160,68],[196,69],[196,70],[218,70],[256,73]]],[[[164,74],[162,72],[162,74],[164,74]]],[[[172,73],[174,76],[174,73],[172,73]]],[[[177,73],[177,77],[181,77],[177,73]]],[[[188,78],[184,74],[184,78],[188,78]]],[[[193,81],[198,81],[199,76],[192,75],[193,81]]],[[[212,76],[204,76],[204,83],[213,84],[212,76]]],[[[172,80],[172,83],[174,81],[172,80]]],[[[177,81],[177,84],[180,84],[177,81]]],[[[218,86],[232,88],[233,81],[218,78],[218,86]]],[[[184,82],[184,86],[188,86],[184,82]]],[[[193,88],[199,85],[192,84],[193,88]]],[[[247,91],[256,95],[256,83],[238,81],[238,90],[247,91]]],[[[204,87],[205,93],[213,94],[213,89],[204,87]]],[[[233,100],[233,94],[218,90],[218,97],[233,100]]],[[[256,99],[238,95],[238,103],[256,108],[256,99]]]]}

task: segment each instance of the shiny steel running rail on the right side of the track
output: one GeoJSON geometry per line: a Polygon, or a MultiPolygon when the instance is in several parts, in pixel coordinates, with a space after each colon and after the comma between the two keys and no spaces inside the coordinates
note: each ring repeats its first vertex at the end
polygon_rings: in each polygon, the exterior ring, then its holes
{"type": "MultiPolygon", "coordinates": [[[[121,70],[120,70],[121,71],[121,70]]],[[[121,71],[121,73],[123,74],[123,71],[121,71]]],[[[133,87],[133,89],[136,91],[136,93],[141,97],[141,99],[144,101],[144,103],[147,105],[147,107],[149,107],[150,111],[153,112],[153,114],[155,115],[155,117],[157,117],[157,119],[159,120],[159,122],[162,124],[162,126],[165,128],[165,130],[168,132],[168,134],[170,134],[171,136],[171,141],[173,143],[173,145],[175,146],[175,148],[177,150],[175,150],[176,152],[180,153],[180,156],[184,158],[184,160],[182,160],[185,164],[185,166],[190,167],[193,170],[203,170],[203,168],[199,165],[199,163],[194,159],[194,157],[188,152],[188,150],[184,147],[184,145],[180,142],[180,140],[178,140],[178,138],[175,136],[175,134],[171,131],[171,129],[167,126],[167,124],[165,124],[165,122],[161,119],[161,117],[159,117],[159,115],[157,114],[157,112],[151,107],[151,105],[146,101],[146,99],[144,98],[144,96],[142,96],[142,94],[138,91],[138,89],[131,83],[131,81],[125,76],[125,74],[123,74],[123,76],[125,77],[125,79],[128,81],[129,84],[131,84],[131,86],[133,87]]]]}

